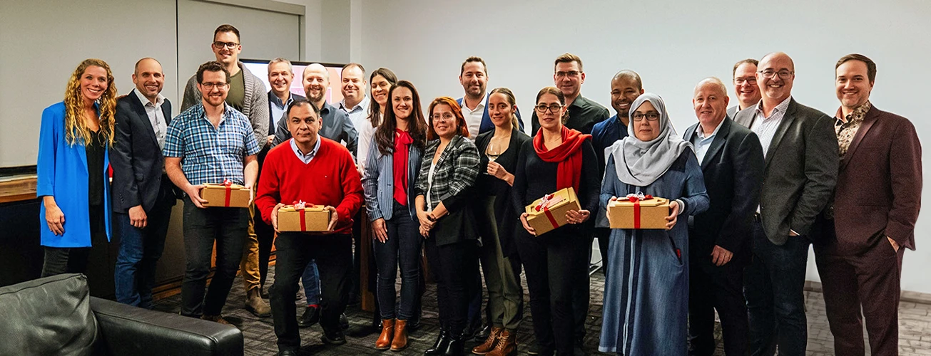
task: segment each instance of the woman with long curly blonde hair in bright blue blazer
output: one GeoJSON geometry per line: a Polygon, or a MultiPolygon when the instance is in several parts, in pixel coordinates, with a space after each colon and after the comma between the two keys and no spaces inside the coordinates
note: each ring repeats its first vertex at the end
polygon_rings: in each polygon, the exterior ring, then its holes
{"type": "Polygon", "coordinates": [[[47,225],[41,233],[43,276],[84,272],[91,246],[110,240],[106,170],[115,106],[110,66],[85,59],[68,80],[64,101],[42,112],[36,196],[43,203],[39,219],[47,225]]]}

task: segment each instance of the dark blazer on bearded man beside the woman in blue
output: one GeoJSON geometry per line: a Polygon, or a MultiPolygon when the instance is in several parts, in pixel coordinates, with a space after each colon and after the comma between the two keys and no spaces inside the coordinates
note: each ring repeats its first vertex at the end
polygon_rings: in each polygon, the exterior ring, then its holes
{"type": "MultiPolygon", "coordinates": [[[[114,145],[110,150],[110,165],[114,170],[113,208],[116,213],[127,213],[130,207],[142,204],[149,211],[158,199],[169,199],[174,204],[174,193],[169,186],[162,189],[162,171],[165,169],[165,157],[158,147],[155,129],[145,113],[142,101],[135,93],[116,100],[114,145]],[[159,193],[162,192],[162,197],[159,193]]],[[[162,103],[165,125],[171,122],[171,102],[162,103]]],[[[168,179],[166,179],[168,180],[168,179]]]]}

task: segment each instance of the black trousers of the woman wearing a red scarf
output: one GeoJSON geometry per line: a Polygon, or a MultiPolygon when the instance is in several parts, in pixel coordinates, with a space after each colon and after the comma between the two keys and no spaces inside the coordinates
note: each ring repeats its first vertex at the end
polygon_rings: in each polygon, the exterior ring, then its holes
{"type": "MultiPolygon", "coordinates": [[[[587,285],[591,240],[562,231],[543,236],[519,233],[517,247],[527,277],[533,334],[541,354],[572,355],[576,319],[573,301],[587,285]]],[[[585,295],[588,291],[585,290],[585,295]]],[[[587,306],[587,298],[586,298],[587,306]]],[[[584,321],[584,319],[583,319],[584,321]]]]}

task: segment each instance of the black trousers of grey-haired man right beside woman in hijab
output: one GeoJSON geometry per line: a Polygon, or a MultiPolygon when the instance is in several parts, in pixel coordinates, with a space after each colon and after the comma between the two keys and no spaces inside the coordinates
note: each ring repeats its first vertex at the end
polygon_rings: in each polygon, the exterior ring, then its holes
{"type": "Polygon", "coordinates": [[[714,354],[714,310],[718,310],[724,354],[746,355],[749,347],[744,266],[731,260],[715,266],[710,257],[689,264],[689,355],[714,354]]]}

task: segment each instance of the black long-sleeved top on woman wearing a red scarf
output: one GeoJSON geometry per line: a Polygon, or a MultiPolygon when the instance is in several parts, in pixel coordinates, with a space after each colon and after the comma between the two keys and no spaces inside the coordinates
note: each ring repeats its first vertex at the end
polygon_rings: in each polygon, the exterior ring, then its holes
{"type": "MultiPolygon", "coordinates": [[[[590,228],[595,224],[601,192],[598,157],[595,156],[595,149],[592,147],[590,139],[585,140],[581,150],[582,178],[579,182],[579,190],[575,192],[575,195],[579,199],[582,208],[588,210],[591,215],[584,224],[561,226],[559,229],[546,232],[543,236],[586,236],[590,228]]],[[[546,194],[557,191],[556,171],[558,167],[559,163],[544,162],[540,159],[540,156],[533,150],[533,139],[524,142],[520,149],[518,166],[514,174],[514,187],[511,189],[511,197],[516,211],[523,213],[525,206],[532,204],[533,201],[542,198],[546,194]]],[[[522,226],[519,228],[518,231],[527,233],[522,229],[522,226]]]]}

